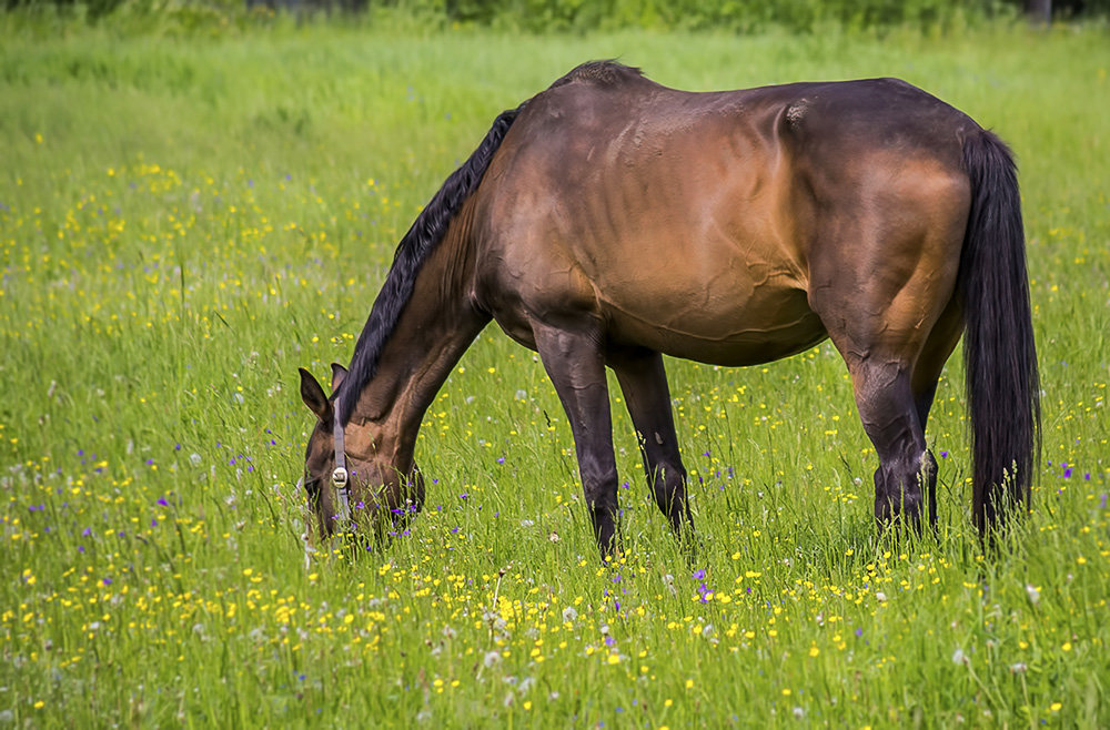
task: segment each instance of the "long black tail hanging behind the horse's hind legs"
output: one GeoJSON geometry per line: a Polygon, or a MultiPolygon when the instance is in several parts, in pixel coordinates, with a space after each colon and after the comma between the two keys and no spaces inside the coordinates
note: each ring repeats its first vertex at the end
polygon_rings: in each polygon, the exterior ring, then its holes
{"type": "Polygon", "coordinates": [[[973,518],[981,538],[1028,509],[1040,433],[1040,384],[1013,158],[991,132],[968,135],[971,210],[960,255],[971,420],[973,518]]]}

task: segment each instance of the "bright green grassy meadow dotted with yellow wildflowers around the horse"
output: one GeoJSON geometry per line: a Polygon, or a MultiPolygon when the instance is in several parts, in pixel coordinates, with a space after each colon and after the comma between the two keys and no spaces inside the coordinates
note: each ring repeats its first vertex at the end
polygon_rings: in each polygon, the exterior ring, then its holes
{"type": "Polygon", "coordinates": [[[0,33],[0,727],[1110,723],[1104,29],[0,33]],[[688,89],[898,75],[1013,146],[1043,450],[998,555],[970,525],[959,355],[927,434],[938,536],[880,539],[826,343],[668,362],[694,565],[614,389],[603,566],[554,391],[494,326],[425,418],[424,514],[305,569],[297,366],[350,359],[501,110],[613,57],[688,89]]]}

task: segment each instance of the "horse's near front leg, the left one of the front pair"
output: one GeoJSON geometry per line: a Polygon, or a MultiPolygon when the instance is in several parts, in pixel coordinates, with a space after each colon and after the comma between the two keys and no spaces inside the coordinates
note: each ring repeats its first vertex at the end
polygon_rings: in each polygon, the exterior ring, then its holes
{"type": "Polygon", "coordinates": [[[536,349],[571,420],[578,474],[602,557],[617,540],[617,465],[605,383],[605,357],[595,329],[536,325],[536,349]]]}

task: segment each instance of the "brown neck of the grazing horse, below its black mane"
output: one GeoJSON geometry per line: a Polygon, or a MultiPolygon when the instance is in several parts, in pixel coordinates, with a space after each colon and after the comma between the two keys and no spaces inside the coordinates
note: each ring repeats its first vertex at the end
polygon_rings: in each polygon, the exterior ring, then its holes
{"type": "Polygon", "coordinates": [[[385,342],[374,377],[351,420],[376,424],[411,458],[424,412],[490,317],[468,295],[473,266],[460,226],[452,226],[416,275],[415,287],[385,342]]]}

